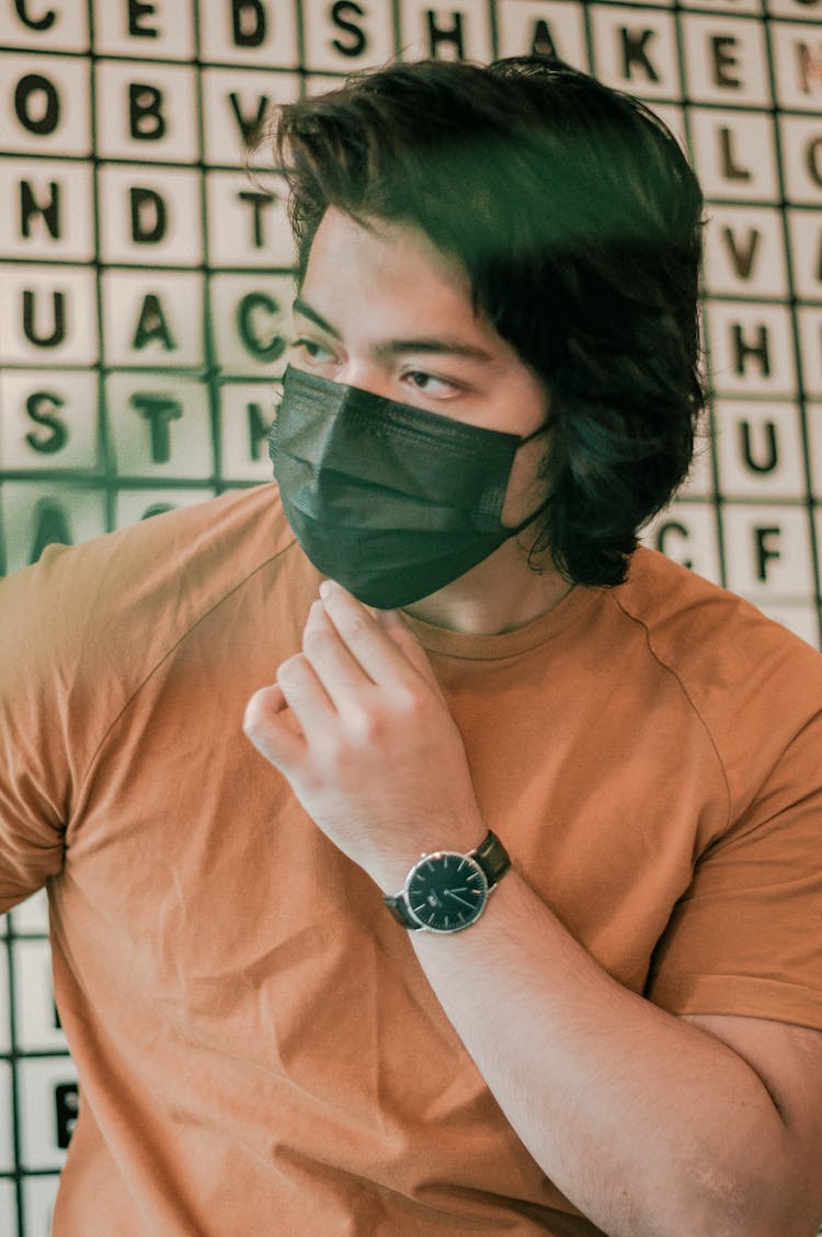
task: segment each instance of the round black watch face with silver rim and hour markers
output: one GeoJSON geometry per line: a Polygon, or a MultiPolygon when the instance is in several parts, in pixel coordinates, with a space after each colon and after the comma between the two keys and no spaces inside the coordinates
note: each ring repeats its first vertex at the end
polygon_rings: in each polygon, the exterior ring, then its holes
{"type": "Polygon", "coordinates": [[[405,887],[411,917],[432,931],[459,931],[479,918],[488,881],[479,863],[452,851],[421,860],[405,887]]]}

